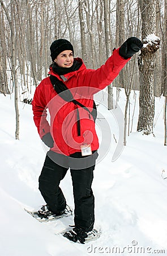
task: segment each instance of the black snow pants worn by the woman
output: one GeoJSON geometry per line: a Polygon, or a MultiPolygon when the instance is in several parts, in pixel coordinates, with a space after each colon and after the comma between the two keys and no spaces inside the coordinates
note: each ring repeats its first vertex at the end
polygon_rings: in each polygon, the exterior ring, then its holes
{"type": "MultiPolygon", "coordinates": [[[[71,156],[82,158],[80,152],[76,152],[71,156]]],[[[75,226],[87,231],[93,229],[95,222],[95,199],[91,188],[94,169],[95,158],[92,160],[90,167],[80,168],[79,170],[70,168],[75,204],[74,223],[75,226]]],[[[48,154],[46,155],[39,177],[39,189],[49,209],[56,214],[59,214],[59,212],[66,208],[66,199],[59,184],[65,177],[67,170],[67,166],[63,167],[57,164],[48,154]]]]}

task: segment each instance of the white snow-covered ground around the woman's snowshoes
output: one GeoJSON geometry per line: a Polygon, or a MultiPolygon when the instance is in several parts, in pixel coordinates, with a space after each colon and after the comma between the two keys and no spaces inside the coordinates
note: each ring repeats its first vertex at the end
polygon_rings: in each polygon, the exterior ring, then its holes
{"type": "MultiPolygon", "coordinates": [[[[42,224],[24,211],[25,207],[38,208],[44,204],[38,191],[38,176],[47,148],[38,137],[31,105],[19,102],[20,140],[16,141],[13,96],[0,94],[0,102],[0,255],[166,255],[167,151],[163,97],[156,98],[155,137],[136,132],[137,101],[133,130],[124,148],[119,140],[122,131],[118,131],[121,121],[117,110],[112,114],[103,105],[99,106],[100,115],[106,119],[97,120],[101,149],[93,192],[95,226],[101,228],[102,234],[99,240],[85,245],[54,234],[72,225],[72,217],[60,219],[53,225],[42,224]],[[115,151],[117,160],[112,161],[115,151]]],[[[124,112],[123,89],[118,104],[124,112]]],[[[131,93],[131,114],[133,104],[131,93]]],[[[70,172],[61,187],[68,205],[74,207],[70,172]]]]}

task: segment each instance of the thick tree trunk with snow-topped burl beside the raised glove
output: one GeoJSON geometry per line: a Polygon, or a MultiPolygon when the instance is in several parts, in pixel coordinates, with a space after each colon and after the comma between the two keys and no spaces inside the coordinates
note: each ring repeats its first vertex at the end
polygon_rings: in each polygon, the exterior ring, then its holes
{"type": "Polygon", "coordinates": [[[153,133],[153,118],[155,114],[155,52],[159,48],[160,39],[153,35],[156,30],[156,0],[145,0],[141,6],[142,40],[144,47],[141,49],[138,59],[140,76],[140,110],[137,130],[143,131],[144,134],[151,134],[153,133]]]}

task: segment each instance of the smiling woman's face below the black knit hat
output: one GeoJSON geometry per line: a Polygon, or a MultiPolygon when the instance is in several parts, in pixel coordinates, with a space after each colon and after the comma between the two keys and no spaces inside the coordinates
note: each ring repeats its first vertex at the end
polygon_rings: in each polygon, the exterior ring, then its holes
{"type": "Polygon", "coordinates": [[[55,58],[54,62],[62,68],[70,68],[74,62],[74,57],[72,56],[71,50],[66,50],[55,58]]]}

